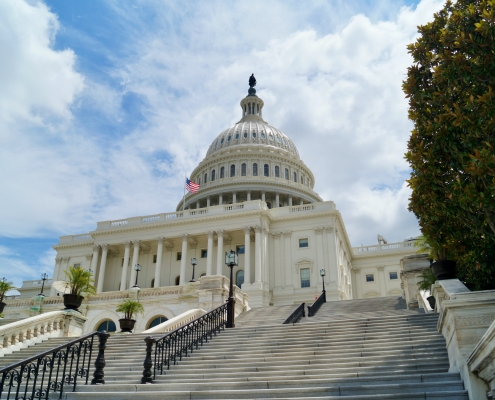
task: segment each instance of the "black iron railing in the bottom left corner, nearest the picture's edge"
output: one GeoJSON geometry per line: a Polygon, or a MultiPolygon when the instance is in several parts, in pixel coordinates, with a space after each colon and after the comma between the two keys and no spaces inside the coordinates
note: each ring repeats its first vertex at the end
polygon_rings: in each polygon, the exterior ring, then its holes
{"type": "Polygon", "coordinates": [[[109,336],[106,332],[93,332],[0,369],[0,398],[61,399],[64,390],[75,391],[78,383],[87,384],[95,337],[99,345],[91,384],[105,383],[104,351],[109,336]]]}

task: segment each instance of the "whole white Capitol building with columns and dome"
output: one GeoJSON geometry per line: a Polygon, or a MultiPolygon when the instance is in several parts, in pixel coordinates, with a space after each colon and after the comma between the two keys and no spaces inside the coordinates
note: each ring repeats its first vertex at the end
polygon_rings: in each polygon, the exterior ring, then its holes
{"type": "MultiPolygon", "coordinates": [[[[401,260],[415,254],[413,242],[352,247],[335,203],[313,190],[314,175],[295,144],[264,120],[254,76],[249,84],[240,121],[213,139],[190,175],[200,189],[181,199],[176,211],[101,221],[94,231],[62,236],[54,246],[53,281],[64,280],[68,266],[94,274],[98,295],[84,311],[88,331],[117,322],[110,303],[135,286],[136,274],[146,310],[138,330],[204,306],[198,298],[208,282],[229,276],[224,260],[231,249],[239,255],[234,280],[246,308],[311,304],[322,290],[321,269],[327,301],[403,294],[401,260]],[[190,282],[192,258],[196,282],[190,282]]],[[[56,296],[52,287],[44,307],[50,299],[61,301],[56,296]]]]}

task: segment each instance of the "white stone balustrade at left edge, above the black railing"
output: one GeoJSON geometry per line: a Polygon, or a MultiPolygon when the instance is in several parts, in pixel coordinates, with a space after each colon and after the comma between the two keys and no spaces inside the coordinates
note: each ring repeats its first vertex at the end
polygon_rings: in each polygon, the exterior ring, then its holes
{"type": "Polygon", "coordinates": [[[76,337],[82,334],[86,318],[75,311],[51,311],[0,326],[0,355],[50,337],[76,337]]]}

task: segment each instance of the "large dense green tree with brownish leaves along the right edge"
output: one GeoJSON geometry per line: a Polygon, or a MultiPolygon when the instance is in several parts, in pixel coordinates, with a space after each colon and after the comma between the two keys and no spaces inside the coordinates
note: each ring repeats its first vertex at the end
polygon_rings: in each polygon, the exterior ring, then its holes
{"type": "Polygon", "coordinates": [[[493,289],[495,1],[449,0],[419,33],[403,83],[414,122],[409,209],[459,279],[493,289]]]}

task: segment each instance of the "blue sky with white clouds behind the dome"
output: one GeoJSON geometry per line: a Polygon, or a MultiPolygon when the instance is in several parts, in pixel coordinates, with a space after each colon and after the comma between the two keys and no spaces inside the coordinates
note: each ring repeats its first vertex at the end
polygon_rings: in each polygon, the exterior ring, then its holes
{"type": "Polygon", "coordinates": [[[169,212],[254,73],[354,246],[407,211],[406,45],[438,0],[0,1],[0,273],[51,274],[60,235],[169,212]]]}

